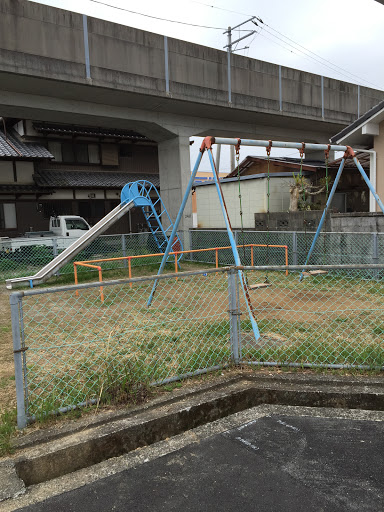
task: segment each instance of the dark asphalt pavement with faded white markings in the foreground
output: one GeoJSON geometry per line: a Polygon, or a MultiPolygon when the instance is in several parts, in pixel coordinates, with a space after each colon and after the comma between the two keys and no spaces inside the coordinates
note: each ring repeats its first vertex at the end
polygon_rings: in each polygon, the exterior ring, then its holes
{"type": "Polygon", "coordinates": [[[18,510],[378,512],[383,434],[382,421],[271,414],[18,510]]]}

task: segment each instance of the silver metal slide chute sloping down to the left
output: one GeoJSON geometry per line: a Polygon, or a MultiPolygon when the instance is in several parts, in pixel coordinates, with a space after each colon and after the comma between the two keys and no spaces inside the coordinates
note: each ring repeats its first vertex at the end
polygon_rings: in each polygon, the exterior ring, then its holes
{"type": "Polygon", "coordinates": [[[5,284],[9,290],[12,289],[12,286],[15,284],[29,284],[32,288],[33,286],[43,283],[49,277],[51,277],[55,272],[57,272],[61,267],[66,265],[72,258],[76,256],[84,247],[90,244],[92,240],[97,238],[99,235],[104,233],[112,224],[114,224],[117,220],[119,220],[125,213],[127,213],[131,208],[135,206],[133,201],[130,202],[122,202],[116,208],[114,208],[111,212],[108,213],[105,217],[103,217],[97,224],[95,224],[90,230],[86,231],[84,235],[75,240],[73,244],[71,244],[67,249],[65,249],[62,253],[60,253],[56,258],[48,263],[45,267],[43,267],[37,274],[34,276],[28,277],[16,277],[14,279],[7,279],[5,284]]]}

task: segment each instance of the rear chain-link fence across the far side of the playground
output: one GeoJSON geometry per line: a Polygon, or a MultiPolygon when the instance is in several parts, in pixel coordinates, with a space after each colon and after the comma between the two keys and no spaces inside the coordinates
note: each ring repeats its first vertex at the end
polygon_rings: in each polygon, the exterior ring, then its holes
{"type": "MultiPolygon", "coordinates": [[[[284,249],[272,247],[273,245],[287,246],[290,265],[304,264],[314,237],[313,232],[245,231],[242,233],[236,230],[234,233],[238,245],[268,246],[254,247],[254,249],[240,247],[241,261],[247,265],[283,265],[285,263],[284,249]]],[[[185,248],[194,250],[230,246],[226,231],[191,230],[180,233],[180,238],[185,248]]],[[[36,273],[72,242],[73,240],[68,238],[46,237],[4,241],[0,245],[0,278],[5,280],[36,273]]],[[[159,249],[151,233],[102,235],[62,267],[59,274],[73,275],[75,261],[148,256],[158,252],[159,249]]],[[[234,264],[231,249],[220,250],[217,259],[219,265],[234,264]]],[[[158,265],[160,261],[161,257],[151,256],[150,258],[132,259],[131,265],[158,265]]],[[[186,254],[182,261],[215,264],[216,254],[214,251],[186,254]]],[[[313,265],[384,264],[384,233],[321,233],[309,263],[313,265]]],[[[105,261],[101,262],[100,266],[103,271],[124,270],[128,267],[128,262],[127,260],[105,261]]],[[[78,271],[81,273],[95,272],[94,269],[85,267],[79,267],[78,271]]]]}

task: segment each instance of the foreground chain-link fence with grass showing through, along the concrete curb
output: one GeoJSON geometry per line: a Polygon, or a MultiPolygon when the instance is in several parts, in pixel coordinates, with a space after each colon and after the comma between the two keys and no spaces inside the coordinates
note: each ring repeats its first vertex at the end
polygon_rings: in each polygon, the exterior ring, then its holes
{"type": "Polygon", "coordinates": [[[367,273],[384,267],[360,267],[247,269],[260,337],[235,268],[162,276],[150,307],[153,276],[104,282],[104,301],[97,283],[15,292],[18,424],[232,363],[381,368],[384,283],[367,273]]]}

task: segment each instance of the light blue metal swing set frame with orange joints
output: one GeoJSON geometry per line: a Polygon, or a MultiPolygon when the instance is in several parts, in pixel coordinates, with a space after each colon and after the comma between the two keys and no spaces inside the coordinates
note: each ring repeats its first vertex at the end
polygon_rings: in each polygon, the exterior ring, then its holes
{"type": "MultiPolygon", "coordinates": [[[[241,146],[264,147],[264,148],[266,148],[267,152],[270,151],[272,147],[273,148],[285,148],[285,149],[298,149],[300,154],[303,154],[306,149],[307,150],[323,150],[325,152],[326,156],[327,156],[327,154],[329,155],[330,151],[343,151],[344,152],[343,158],[341,159],[340,166],[339,166],[339,169],[338,169],[337,174],[336,174],[336,178],[335,178],[335,180],[333,182],[331,191],[330,191],[330,193],[328,195],[328,199],[327,199],[326,205],[324,207],[324,211],[323,211],[323,214],[321,216],[319,225],[317,227],[314,239],[313,239],[311,247],[310,247],[310,249],[308,251],[304,267],[309,264],[310,257],[311,257],[311,255],[313,253],[314,248],[315,248],[317,239],[319,237],[319,234],[320,234],[321,229],[323,227],[324,221],[326,219],[326,215],[327,215],[328,209],[329,209],[329,207],[330,207],[330,205],[332,203],[332,199],[333,199],[333,196],[335,194],[337,185],[338,185],[340,177],[341,177],[341,175],[343,173],[345,162],[346,162],[346,160],[348,158],[352,158],[353,159],[357,169],[360,171],[361,176],[363,177],[365,183],[367,184],[369,190],[371,191],[371,193],[372,193],[373,197],[375,198],[377,204],[379,205],[381,211],[384,213],[384,205],[383,205],[383,203],[381,202],[381,200],[380,200],[379,196],[377,195],[377,193],[376,193],[372,183],[370,182],[366,172],[364,171],[362,165],[360,164],[360,162],[357,159],[353,149],[350,146],[340,146],[340,145],[333,145],[333,144],[312,144],[312,143],[307,143],[306,144],[304,142],[281,142],[281,141],[271,141],[271,140],[236,139],[236,138],[224,138],[224,137],[205,137],[205,139],[203,140],[203,142],[201,144],[199,155],[198,155],[198,157],[196,159],[196,163],[195,163],[193,171],[191,173],[191,176],[190,176],[190,179],[189,179],[189,182],[188,182],[188,185],[187,185],[187,188],[186,188],[186,191],[185,191],[185,194],[184,194],[184,197],[183,197],[183,200],[182,200],[179,212],[177,214],[175,223],[173,225],[172,233],[171,233],[171,235],[169,237],[167,248],[166,248],[166,250],[164,252],[164,256],[162,258],[162,261],[161,261],[161,264],[160,264],[160,267],[159,267],[157,275],[162,274],[162,272],[164,270],[165,264],[166,264],[167,259],[168,259],[169,252],[171,251],[171,248],[172,248],[172,240],[174,240],[174,237],[176,236],[177,228],[178,228],[178,226],[180,224],[180,220],[181,220],[181,217],[183,215],[183,212],[184,212],[184,209],[185,209],[185,205],[186,205],[187,200],[188,200],[188,198],[190,196],[190,193],[192,191],[192,186],[193,186],[193,183],[194,183],[194,180],[195,180],[195,177],[196,177],[196,173],[197,173],[197,171],[199,169],[200,162],[201,162],[201,160],[203,158],[203,155],[204,155],[205,151],[207,151],[207,153],[208,153],[209,161],[210,161],[210,164],[211,164],[213,179],[214,179],[214,182],[215,182],[215,185],[216,185],[216,190],[217,190],[217,194],[218,194],[219,201],[220,201],[221,211],[222,211],[222,214],[223,214],[223,217],[224,217],[224,222],[225,222],[225,225],[226,225],[229,241],[230,241],[231,248],[232,248],[232,253],[233,253],[233,256],[234,256],[234,260],[235,260],[235,265],[237,267],[241,267],[242,266],[240,255],[239,255],[239,251],[237,249],[237,245],[236,245],[236,242],[235,242],[235,237],[234,237],[234,234],[233,234],[233,231],[232,231],[232,226],[231,226],[231,221],[229,219],[228,210],[227,210],[227,207],[226,207],[226,204],[225,204],[225,200],[224,200],[224,196],[223,196],[223,191],[222,191],[222,188],[221,188],[219,174],[218,174],[218,171],[217,171],[217,168],[216,168],[215,159],[213,157],[212,146],[214,144],[221,144],[221,145],[224,144],[224,145],[229,145],[229,146],[235,146],[237,151],[239,151],[240,145],[241,145],[241,146]]],[[[303,270],[300,273],[300,278],[299,278],[300,282],[302,281],[302,279],[304,277],[304,270],[305,269],[303,268],[303,270]]],[[[238,270],[238,275],[239,275],[239,280],[240,280],[242,292],[243,292],[243,295],[244,295],[244,298],[245,298],[245,301],[246,301],[246,304],[247,304],[247,310],[248,310],[249,318],[250,318],[250,321],[251,321],[251,324],[252,324],[253,333],[255,335],[255,339],[258,340],[258,339],[260,339],[260,331],[259,331],[259,327],[257,325],[255,311],[254,311],[254,308],[253,308],[253,305],[252,305],[252,301],[251,301],[251,298],[250,298],[250,295],[249,295],[249,286],[247,284],[247,280],[245,278],[243,270],[238,270]]],[[[152,303],[154,294],[156,292],[157,283],[158,283],[158,280],[155,280],[155,282],[153,284],[152,291],[151,291],[151,295],[150,295],[150,297],[148,299],[148,302],[147,302],[148,307],[152,303]]]]}

